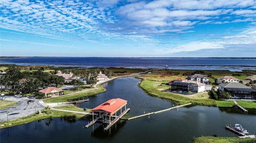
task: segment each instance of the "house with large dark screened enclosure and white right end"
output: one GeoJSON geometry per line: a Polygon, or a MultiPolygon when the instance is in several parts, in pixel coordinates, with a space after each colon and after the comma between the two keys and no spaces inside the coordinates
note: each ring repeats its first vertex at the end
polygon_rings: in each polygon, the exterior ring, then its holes
{"type": "Polygon", "coordinates": [[[181,94],[194,94],[198,92],[204,92],[205,84],[193,80],[188,80],[185,82],[172,82],[171,91],[179,92],[181,94]]]}

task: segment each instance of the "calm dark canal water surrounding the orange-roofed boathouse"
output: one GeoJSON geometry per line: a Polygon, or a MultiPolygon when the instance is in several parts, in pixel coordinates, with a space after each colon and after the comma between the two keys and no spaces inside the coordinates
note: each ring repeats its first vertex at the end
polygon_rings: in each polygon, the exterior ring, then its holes
{"type": "MultiPolygon", "coordinates": [[[[94,107],[110,98],[128,100],[131,114],[156,111],[172,106],[171,102],[145,94],[137,87],[139,80],[123,78],[110,81],[107,91],[90,97],[81,107],[94,107]]],[[[235,137],[225,130],[227,123],[241,123],[251,134],[256,132],[256,116],[220,111],[218,107],[193,106],[179,110],[119,121],[109,131],[101,124],[85,129],[85,120],[69,123],[60,119],[46,119],[1,130],[1,142],[190,142],[193,137],[235,137]]]]}

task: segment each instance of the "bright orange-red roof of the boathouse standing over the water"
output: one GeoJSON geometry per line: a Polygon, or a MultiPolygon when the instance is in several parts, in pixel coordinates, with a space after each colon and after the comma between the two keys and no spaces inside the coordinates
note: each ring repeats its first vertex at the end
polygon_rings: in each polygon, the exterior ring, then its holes
{"type": "Polygon", "coordinates": [[[93,108],[91,111],[106,111],[111,115],[127,104],[127,101],[121,98],[109,99],[107,102],[93,108]]]}

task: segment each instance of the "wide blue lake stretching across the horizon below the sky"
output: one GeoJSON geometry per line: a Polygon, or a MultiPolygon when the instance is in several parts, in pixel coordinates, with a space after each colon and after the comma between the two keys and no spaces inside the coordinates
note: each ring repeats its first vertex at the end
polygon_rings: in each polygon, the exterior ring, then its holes
{"type": "Polygon", "coordinates": [[[193,70],[256,70],[256,59],[213,58],[113,58],[113,57],[27,57],[1,59],[2,64],[83,67],[163,68],[193,70]]]}

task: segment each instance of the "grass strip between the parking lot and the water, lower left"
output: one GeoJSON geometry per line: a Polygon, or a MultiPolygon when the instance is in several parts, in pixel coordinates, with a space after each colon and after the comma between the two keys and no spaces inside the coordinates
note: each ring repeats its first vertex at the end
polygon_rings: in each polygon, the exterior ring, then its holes
{"type": "Polygon", "coordinates": [[[0,122],[0,129],[13,127],[15,125],[25,124],[29,122],[34,122],[41,119],[54,118],[54,117],[63,117],[63,116],[71,116],[75,115],[76,119],[89,119],[90,116],[84,114],[70,113],[70,112],[61,112],[61,111],[51,111],[50,113],[42,113],[42,114],[32,114],[26,117],[21,117],[19,119],[9,120],[0,122]],[[2,126],[3,125],[3,126],[2,126]]]}

